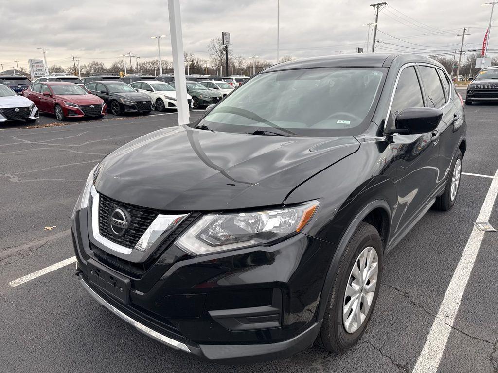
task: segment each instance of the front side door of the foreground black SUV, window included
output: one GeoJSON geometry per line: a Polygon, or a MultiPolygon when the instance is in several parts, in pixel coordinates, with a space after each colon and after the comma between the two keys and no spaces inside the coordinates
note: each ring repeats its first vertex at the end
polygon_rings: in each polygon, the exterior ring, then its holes
{"type": "MultiPolygon", "coordinates": [[[[405,65],[399,73],[388,118],[392,128],[395,117],[409,107],[423,107],[420,78],[414,64],[405,65]]],[[[394,234],[427,206],[439,176],[439,142],[433,132],[422,134],[395,133],[387,137],[393,151],[393,166],[397,170],[398,204],[393,216],[394,234]]]]}

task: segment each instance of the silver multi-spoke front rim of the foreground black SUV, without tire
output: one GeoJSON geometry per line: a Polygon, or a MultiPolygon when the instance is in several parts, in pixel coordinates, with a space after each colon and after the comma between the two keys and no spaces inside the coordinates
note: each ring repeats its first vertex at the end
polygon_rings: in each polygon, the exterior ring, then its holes
{"type": "Polygon", "coordinates": [[[372,246],[356,259],[343,302],[343,324],[348,333],[356,332],[367,319],[377,287],[378,255],[372,246]]]}

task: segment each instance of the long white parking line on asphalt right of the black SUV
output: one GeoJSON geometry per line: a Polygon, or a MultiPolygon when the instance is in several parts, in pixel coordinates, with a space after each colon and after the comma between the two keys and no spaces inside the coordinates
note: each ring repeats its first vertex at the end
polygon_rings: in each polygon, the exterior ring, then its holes
{"type": "MultiPolygon", "coordinates": [[[[498,169],[495,173],[490,189],[486,194],[483,206],[476,221],[488,221],[498,194],[498,169]]],[[[479,248],[484,238],[484,231],[474,227],[467,241],[467,245],[458,262],[453,278],[446,289],[443,302],[432,324],[424,348],[413,368],[413,373],[435,373],[439,368],[448,338],[455,322],[467,282],[474,267],[479,248]]]]}

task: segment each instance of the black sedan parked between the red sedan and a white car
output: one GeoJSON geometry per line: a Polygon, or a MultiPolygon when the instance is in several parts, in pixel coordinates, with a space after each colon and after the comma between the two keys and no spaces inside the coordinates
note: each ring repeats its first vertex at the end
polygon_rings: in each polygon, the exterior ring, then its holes
{"type": "Polygon", "coordinates": [[[114,115],[120,115],[123,112],[146,114],[152,110],[150,97],[143,92],[136,92],[124,82],[107,80],[88,83],[86,87],[91,93],[102,98],[114,115]]]}

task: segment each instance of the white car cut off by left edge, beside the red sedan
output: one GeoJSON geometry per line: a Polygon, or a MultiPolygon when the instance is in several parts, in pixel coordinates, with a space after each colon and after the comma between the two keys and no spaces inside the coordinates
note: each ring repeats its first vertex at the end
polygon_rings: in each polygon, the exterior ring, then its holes
{"type": "Polygon", "coordinates": [[[38,108],[33,101],[0,83],[0,123],[8,120],[34,123],[38,115],[38,108]]]}

